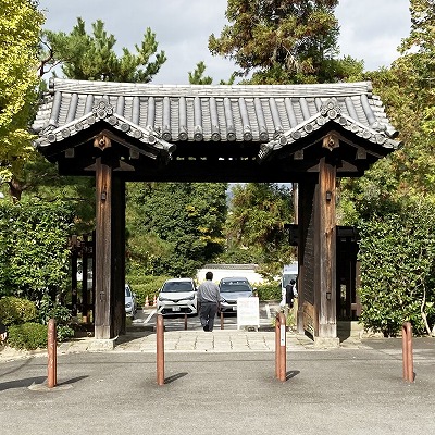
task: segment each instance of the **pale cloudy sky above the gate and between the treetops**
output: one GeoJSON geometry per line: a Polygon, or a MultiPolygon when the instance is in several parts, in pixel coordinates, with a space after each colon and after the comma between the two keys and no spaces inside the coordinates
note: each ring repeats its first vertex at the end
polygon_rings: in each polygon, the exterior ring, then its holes
{"type": "MultiPolygon", "coordinates": [[[[213,83],[227,80],[237,67],[208,50],[211,34],[225,24],[227,0],[39,0],[47,17],[45,28],[70,33],[80,16],[88,33],[97,20],[116,38],[115,49],[134,51],[147,27],[156,34],[167,61],[154,84],[188,84],[188,72],[204,61],[204,75],[213,83]]],[[[365,70],[388,66],[398,58],[397,47],[410,32],[409,0],[340,0],[335,11],[340,25],[340,55],[364,60],[365,70]]]]}

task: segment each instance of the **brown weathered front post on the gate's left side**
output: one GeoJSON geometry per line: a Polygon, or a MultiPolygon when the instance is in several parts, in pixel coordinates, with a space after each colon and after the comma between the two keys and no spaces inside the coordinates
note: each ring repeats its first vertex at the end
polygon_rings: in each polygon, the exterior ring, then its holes
{"type": "Polygon", "coordinates": [[[95,338],[112,338],[112,167],[96,159],[95,338]]]}

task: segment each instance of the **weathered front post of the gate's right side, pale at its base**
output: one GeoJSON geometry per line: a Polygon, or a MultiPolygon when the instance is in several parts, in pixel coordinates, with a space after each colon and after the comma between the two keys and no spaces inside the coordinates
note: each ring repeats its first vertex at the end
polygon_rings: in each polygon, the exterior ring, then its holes
{"type": "Polygon", "coordinates": [[[319,337],[336,338],[336,167],[322,158],[319,170],[319,337]]]}

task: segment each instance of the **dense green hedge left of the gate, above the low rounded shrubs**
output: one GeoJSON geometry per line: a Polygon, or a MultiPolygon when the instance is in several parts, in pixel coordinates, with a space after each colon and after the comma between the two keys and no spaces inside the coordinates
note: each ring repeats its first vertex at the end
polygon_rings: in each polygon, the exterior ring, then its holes
{"type": "Polygon", "coordinates": [[[66,289],[73,212],[55,201],[0,202],[0,295],[39,302],[66,289]]]}

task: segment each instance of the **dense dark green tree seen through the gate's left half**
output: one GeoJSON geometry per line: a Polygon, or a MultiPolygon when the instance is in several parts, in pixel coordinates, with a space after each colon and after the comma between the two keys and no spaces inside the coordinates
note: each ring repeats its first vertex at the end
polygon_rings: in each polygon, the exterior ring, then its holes
{"type": "Polygon", "coordinates": [[[128,185],[129,266],[147,275],[194,276],[222,251],[226,184],[128,185]]]}

